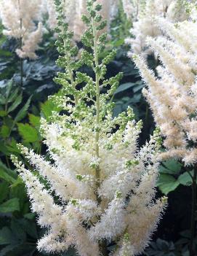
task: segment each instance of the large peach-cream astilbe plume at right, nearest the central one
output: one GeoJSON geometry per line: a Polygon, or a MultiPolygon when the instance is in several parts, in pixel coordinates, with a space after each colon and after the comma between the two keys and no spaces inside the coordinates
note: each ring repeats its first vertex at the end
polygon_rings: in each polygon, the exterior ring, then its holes
{"type": "Polygon", "coordinates": [[[168,36],[148,38],[162,63],[157,68],[158,77],[142,58],[134,60],[148,85],[144,95],[166,137],[164,146],[168,151],[163,156],[181,158],[185,165],[193,164],[197,161],[196,20],[174,24],[158,18],[157,23],[168,36]]]}

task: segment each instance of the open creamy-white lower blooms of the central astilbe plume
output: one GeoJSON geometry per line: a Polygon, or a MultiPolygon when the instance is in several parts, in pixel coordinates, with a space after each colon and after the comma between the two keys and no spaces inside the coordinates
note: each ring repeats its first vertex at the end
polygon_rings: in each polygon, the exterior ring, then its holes
{"type": "Polygon", "coordinates": [[[99,241],[108,239],[109,243],[118,242],[120,251],[114,255],[142,252],[165,205],[165,201],[153,201],[160,147],[157,133],[137,150],[139,123],[128,121],[125,130],[112,134],[108,133],[110,127],[108,131],[102,129],[98,163],[92,161],[95,131],[87,126],[87,120],[78,120],[72,131],[64,121],[49,124],[43,120],[45,142],[54,163],[20,145],[25,158],[47,179],[51,192],[59,196],[61,206],[55,204],[38,177],[13,158],[26,184],[32,210],[39,214],[39,224],[49,228],[38,248],[56,252],[75,246],[80,255],[98,256],[99,241]],[[76,143],[80,143],[79,149],[76,143]],[[100,168],[99,188],[94,164],[100,168]],[[125,251],[125,234],[129,234],[132,247],[126,253],[121,252],[125,251]]]}

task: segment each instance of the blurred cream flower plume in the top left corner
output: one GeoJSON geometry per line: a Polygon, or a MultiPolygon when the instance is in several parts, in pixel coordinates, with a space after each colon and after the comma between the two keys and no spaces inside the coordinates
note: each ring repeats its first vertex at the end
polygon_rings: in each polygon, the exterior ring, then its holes
{"type": "Polygon", "coordinates": [[[36,58],[35,50],[43,34],[41,0],[0,0],[0,17],[5,27],[3,33],[21,40],[17,55],[36,58]]]}

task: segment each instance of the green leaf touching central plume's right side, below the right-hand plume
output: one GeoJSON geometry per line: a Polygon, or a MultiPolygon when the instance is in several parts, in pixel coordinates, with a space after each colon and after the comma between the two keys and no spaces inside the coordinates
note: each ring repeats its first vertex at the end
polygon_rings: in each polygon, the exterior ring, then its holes
{"type": "Polygon", "coordinates": [[[160,174],[157,182],[158,188],[165,195],[171,191],[174,191],[179,185],[180,182],[178,182],[177,179],[174,179],[174,177],[170,174],[160,174]]]}

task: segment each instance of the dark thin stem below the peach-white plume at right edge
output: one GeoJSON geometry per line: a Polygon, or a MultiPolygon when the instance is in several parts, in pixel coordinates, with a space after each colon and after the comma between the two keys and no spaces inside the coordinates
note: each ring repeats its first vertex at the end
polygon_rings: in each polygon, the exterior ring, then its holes
{"type": "Polygon", "coordinates": [[[191,219],[190,219],[190,256],[195,255],[194,238],[196,228],[196,178],[197,178],[197,165],[194,166],[193,170],[193,181],[192,181],[192,207],[191,207],[191,219]]]}

